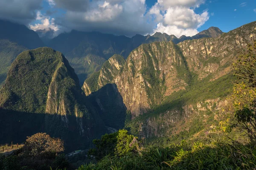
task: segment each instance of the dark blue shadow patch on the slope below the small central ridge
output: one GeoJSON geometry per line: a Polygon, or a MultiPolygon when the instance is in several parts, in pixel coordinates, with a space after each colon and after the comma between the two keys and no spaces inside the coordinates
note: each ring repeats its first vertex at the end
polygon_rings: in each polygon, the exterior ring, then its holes
{"type": "Polygon", "coordinates": [[[116,84],[106,84],[87,98],[106,126],[117,130],[125,126],[126,106],[116,84]]]}

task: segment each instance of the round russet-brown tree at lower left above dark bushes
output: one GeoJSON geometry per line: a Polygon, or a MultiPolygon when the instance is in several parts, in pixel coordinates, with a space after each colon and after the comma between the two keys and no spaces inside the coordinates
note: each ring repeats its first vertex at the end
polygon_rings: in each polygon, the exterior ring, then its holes
{"type": "Polygon", "coordinates": [[[51,138],[47,133],[36,133],[27,137],[24,149],[33,156],[41,153],[60,153],[64,151],[64,142],[58,138],[51,138]]]}

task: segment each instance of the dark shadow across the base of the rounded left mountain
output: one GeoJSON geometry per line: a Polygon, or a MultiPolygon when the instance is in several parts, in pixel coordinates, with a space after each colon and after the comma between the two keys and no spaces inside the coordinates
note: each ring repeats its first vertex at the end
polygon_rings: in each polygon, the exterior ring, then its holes
{"type": "Polygon", "coordinates": [[[84,122],[75,116],[68,116],[68,125],[64,116],[45,113],[27,113],[0,108],[0,144],[23,143],[26,136],[35,133],[48,133],[51,137],[64,140],[65,152],[86,149],[92,140],[105,134],[104,125],[86,125],[84,134],[79,134],[77,122],[84,122]],[[94,127],[93,127],[94,126],[94,127]]]}

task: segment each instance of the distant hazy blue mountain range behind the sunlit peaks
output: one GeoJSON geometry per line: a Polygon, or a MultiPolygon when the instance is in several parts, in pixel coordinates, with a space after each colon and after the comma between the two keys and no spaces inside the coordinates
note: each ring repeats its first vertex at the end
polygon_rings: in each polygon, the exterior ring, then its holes
{"type": "Polygon", "coordinates": [[[55,31],[51,28],[44,30],[32,31],[24,25],[0,20],[0,40],[9,41],[1,42],[0,58],[6,60],[1,62],[0,85],[6,78],[6,71],[9,69],[10,63],[14,61],[21,51],[35,49],[47,46],[61,51],[69,60],[71,66],[78,74],[80,85],[94,71],[99,71],[102,64],[114,54],[120,54],[125,59],[130,52],[141,44],[151,43],[154,41],[170,41],[175,43],[183,40],[198,39],[202,37],[215,37],[222,33],[218,28],[211,27],[193,37],[182,36],[179,39],[174,35],[155,33],[150,36],[135,35],[134,37],[115,36],[112,34],[102,34],[99,32],[81,32],[71,31],[70,33],[62,33],[54,37],[55,31]],[[39,35],[39,36],[38,36],[39,35]],[[54,38],[53,38],[54,37],[54,38]],[[10,51],[9,45],[17,45],[15,51],[10,51]],[[3,46],[7,45],[7,46],[3,46]],[[19,49],[17,49],[19,48],[19,49]]]}

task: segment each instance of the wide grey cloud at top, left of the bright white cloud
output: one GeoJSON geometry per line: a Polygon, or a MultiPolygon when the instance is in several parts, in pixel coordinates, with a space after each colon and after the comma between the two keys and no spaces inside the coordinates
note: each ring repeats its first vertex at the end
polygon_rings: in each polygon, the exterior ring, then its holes
{"type": "Polygon", "coordinates": [[[111,34],[148,34],[154,23],[147,20],[145,0],[55,0],[66,9],[58,23],[81,31],[101,31],[111,34]]]}

